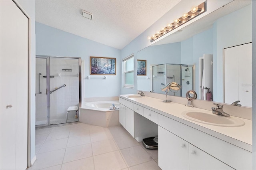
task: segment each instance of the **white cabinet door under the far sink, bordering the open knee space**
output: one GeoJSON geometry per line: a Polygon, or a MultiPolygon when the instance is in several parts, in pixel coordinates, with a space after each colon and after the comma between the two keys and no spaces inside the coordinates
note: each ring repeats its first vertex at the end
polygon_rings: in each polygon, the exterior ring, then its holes
{"type": "Polygon", "coordinates": [[[125,107],[125,129],[134,137],[134,113],[128,107],[125,107]]]}

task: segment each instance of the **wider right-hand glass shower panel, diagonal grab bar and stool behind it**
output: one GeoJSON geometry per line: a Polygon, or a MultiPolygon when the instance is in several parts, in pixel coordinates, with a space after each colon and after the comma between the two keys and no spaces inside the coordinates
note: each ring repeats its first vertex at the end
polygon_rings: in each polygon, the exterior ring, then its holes
{"type": "Polygon", "coordinates": [[[50,57],[50,125],[79,121],[79,59],[50,57]]]}

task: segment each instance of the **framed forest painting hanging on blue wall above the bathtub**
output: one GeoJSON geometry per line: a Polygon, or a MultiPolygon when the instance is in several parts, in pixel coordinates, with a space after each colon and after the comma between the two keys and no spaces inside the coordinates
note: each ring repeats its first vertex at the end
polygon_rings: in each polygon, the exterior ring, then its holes
{"type": "Polygon", "coordinates": [[[116,59],[90,57],[90,75],[116,75],[116,59]]]}

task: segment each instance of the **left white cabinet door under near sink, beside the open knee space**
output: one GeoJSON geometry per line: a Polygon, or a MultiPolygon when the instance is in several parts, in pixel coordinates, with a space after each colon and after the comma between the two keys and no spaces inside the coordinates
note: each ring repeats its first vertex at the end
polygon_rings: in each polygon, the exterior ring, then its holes
{"type": "Polygon", "coordinates": [[[187,170],[188,142],[158,126],[158,166],[162,170],[187,170]]]}

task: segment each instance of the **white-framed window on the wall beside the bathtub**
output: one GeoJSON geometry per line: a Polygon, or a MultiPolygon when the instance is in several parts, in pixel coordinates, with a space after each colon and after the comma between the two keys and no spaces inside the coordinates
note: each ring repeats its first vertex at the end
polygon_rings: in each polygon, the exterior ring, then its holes
{"type": "Polygon", "coordinates": [[[134,88],[134,54],[123,59],[123,85],[134,88]]]}

